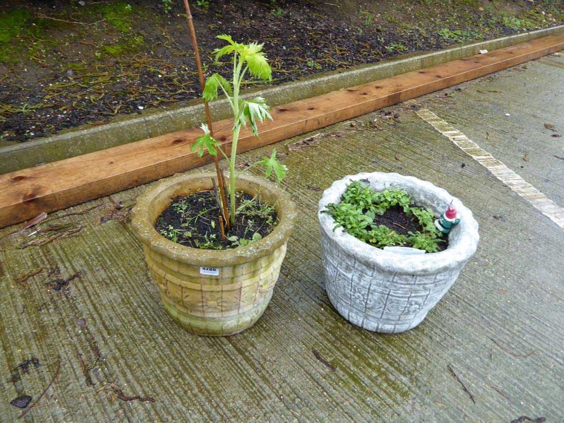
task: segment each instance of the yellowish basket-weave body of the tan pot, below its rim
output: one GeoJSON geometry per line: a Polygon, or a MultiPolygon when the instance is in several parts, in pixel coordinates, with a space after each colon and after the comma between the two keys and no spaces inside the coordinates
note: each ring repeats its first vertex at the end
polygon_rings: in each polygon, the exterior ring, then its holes
{"type": "Polygon", "coordinates": [[[286,244],[272,254],[201,275],[187,265],[144,247],[147,266],[171,318],[192,333],[229,335],[253,325],[265,311],[280,274],[286,244]]]}

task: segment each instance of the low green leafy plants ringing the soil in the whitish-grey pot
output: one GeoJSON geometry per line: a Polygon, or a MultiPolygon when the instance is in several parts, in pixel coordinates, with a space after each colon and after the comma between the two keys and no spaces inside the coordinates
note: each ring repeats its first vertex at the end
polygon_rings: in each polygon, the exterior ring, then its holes
{"type": "Polygon", "coordinates": [[[374,191],[367,184],[351,183],[339,204],[328,204],[334,229],[343,230],[377,248],[411,246],[436,253],[447,249],[448,239],[435,227],[433,210],[415,205],[403,190],[374,191]]]}

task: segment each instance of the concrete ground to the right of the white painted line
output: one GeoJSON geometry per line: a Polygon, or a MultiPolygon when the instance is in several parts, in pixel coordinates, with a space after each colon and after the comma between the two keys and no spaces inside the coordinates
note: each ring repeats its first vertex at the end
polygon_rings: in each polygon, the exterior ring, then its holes
{"type": "Polygon", "coordinates": [[[434,112],[564,207],[564,54],[458,88],[434,112]]]}

